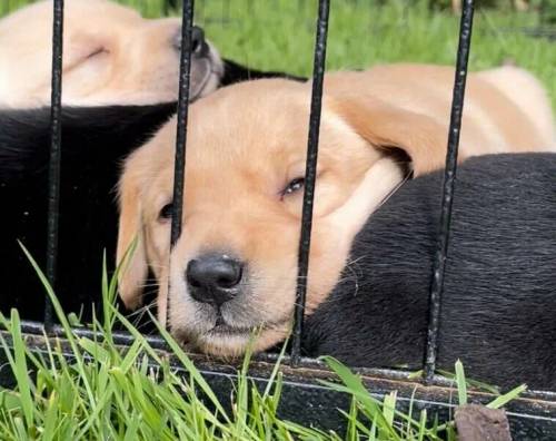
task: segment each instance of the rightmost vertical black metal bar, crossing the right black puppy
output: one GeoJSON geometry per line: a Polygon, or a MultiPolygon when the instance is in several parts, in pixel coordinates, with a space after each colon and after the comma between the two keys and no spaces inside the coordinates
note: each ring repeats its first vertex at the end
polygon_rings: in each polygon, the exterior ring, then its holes
{"type": "Polygon", "coordinates": [[[440,320],[440,301],[444,285],[444,273],[448,252],[448,239],[451,222],[451,204],[454,200],[454,184],[456,179],[457,151],[464,111],[465,84],[467,65],[471,45],[473,0],[464,0],[461,21],[459,24],[459,46],[456,61],[456,78],[451,98],[450,126],[448,134],[448,153],[444,174],[440,223],[437,236],[437,247],[433,264],[433,282],[430,286],[430,303],[428,317],[427,349],[425,354],[425,379],[430,381],[436,369],[438,331],[440,320]]]}

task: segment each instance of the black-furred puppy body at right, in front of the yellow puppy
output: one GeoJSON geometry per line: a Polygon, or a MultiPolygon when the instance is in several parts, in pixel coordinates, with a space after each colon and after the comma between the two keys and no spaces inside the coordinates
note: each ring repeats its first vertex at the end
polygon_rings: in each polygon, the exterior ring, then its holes
{"type": "MultiPolygon", "coordinates": [[[[424,359],[441,174],[408,182],[357,236],[305,347],[354,366],[424,359]]],[[[457,171],[439,367],[556,389],[556,155],[473,158],[457,171]]]]}

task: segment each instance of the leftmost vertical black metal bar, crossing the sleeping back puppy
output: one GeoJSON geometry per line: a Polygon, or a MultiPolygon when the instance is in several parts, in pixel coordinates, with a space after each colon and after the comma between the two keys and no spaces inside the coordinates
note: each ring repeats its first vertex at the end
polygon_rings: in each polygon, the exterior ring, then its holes
{"type": "MultiPolygon", "coordinates": [[[[60,207],[60,158],[61,158],[61,97],[62,97],[62,46],[63,0],[53,1],[52,20],[52,90],[50,107],[50,159],[48,170],[48,233],[47,233],[47,277],[56,284],[58,258],[58,219],[60,207]]],[[[52,304],[48,296],[44,303],[44,327],[53,324],[52,304]]]]}

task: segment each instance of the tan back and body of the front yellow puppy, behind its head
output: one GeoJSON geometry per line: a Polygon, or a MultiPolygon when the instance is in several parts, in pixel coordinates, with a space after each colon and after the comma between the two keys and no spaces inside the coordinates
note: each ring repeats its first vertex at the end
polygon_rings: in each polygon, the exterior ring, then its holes
{"type": "MultiPolygon", "coordinates": [[[[423,115],[429,120],[427,127],[438,125],[438,136],[444,138],[441,144],[446,144],[453,84],[453,68],[399,63],[376,66],[366,72],[332,74],[326,87],[329,95],[338,95],[341,99],[355,96],[363,105],[378,100],[399,110],[423,115]]],[[[487,151],[555,148],[554,116],[546,92],[523,69],[498,68],[470,74],[465,99],[460,159],[487,151]],[[508,70],[516,74],[509,76],[508,70]],[[512,94],[516,78],[520,78],[520,90],[512,94]]],[[[405,128],[399,124],[398,130],[420,136],[419,125],[410,124],[410,128],[405,128]]],[[[431,131],[427,133],[430,136],[431,131]]],[[[430,155],[426,155],[426,160],[430,159],[430,155]]]]}

